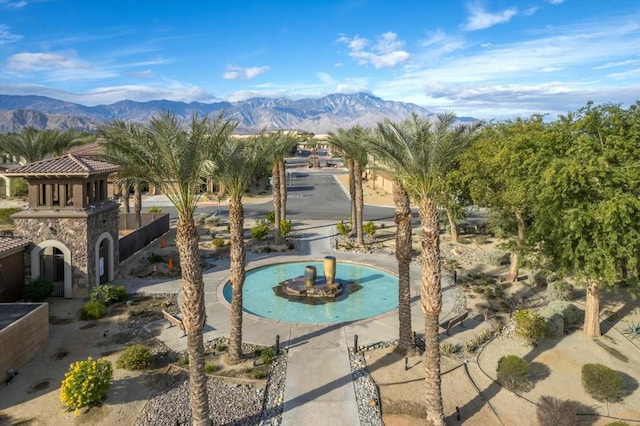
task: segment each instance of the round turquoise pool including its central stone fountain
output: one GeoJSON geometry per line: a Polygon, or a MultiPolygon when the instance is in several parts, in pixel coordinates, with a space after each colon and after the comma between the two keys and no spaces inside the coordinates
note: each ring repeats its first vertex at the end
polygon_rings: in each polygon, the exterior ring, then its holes
{"type": "MultiPolygon", "coordinates": [[[[230,303],[231,284],[219,291],[230,303]]],[[[333,256],[276,263],[247,271],[242,300],[245,313],[275,321],[357,321],[398,307],[398,278],[373,266],[336,262],[333,256]]]]}

